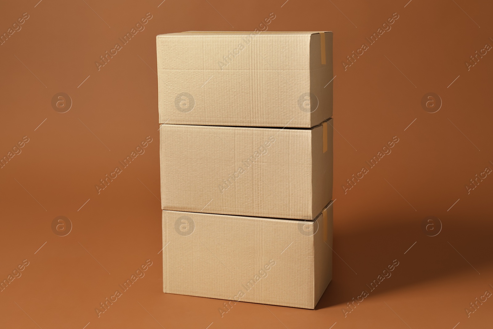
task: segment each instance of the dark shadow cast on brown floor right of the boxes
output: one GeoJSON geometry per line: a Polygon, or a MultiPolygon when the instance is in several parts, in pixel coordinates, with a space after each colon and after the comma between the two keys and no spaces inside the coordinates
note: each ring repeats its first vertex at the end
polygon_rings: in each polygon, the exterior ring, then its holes
{"type": "MultiPolygon", "coordinates": [[[[333,249],[340,257],[333,255],[332,282],[316,309],[345,306],[362,291],[367,291],[371,298],[459,272],[486,280],[488,277],[479,273],[493,264],[490,219],[491,216],[441,219],[442,230],[432,237],[422,229],[423,218],[393,221],[369,218],[365,220],[366,227],[344,231],[336,228],[333,249]],[[370,284],[394,259],[399,265],[390,272],[391,276],[371,290],[370,284]]],[[[488,286],[487,281],[485,285],[488,286]]]]}

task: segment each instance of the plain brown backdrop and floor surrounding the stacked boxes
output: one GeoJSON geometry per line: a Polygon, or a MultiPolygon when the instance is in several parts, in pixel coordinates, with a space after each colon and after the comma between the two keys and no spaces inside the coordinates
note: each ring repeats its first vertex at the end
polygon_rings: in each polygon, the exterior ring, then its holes
{"type": "Polygon", "coordinates": [[[493,5],[407,1],[3,1],[2,34],[30,18],[0,46],[0,155],[30,141],[0,169],[0,279],[30,264],[0,292],[0,327],[491,327],[491,298],[469,318],[465,308],[493,292],[493,178],[470,194],[465,185],[493,168],[493,54],[470,71],[465,61],[493,45],[493,5]],[[98,71],[99,56],[149,12],[145,30],[98,71]],[[316,310],[238,303],[221,318],[221,300],[162,292],[155,36],[254,30],[272,12],[271,31],[334,31],[338,256],[316,310]],[[395,12],[392,29],[344,71],[395,12]],[[51,106],[58,92],[72,99],[66,113],[51,106]],[[428,92],[443,101],[436,113],[421,107],[428,92]],[[145,153],[98,194],[95,184],[146,136],[145,153]],[[392,153],[345,194],[342,184],[394,136],[392,153]],[[52,231],[57,216],[70,219],[69,235],[52,231]],[[441,220],[437,236],[422,230],[427,216],[441,220]],[[146,259],[145,277],[98,318],[99,303],[146,259]],[[393,259],[392,276],[344,317],[393,259]]]}

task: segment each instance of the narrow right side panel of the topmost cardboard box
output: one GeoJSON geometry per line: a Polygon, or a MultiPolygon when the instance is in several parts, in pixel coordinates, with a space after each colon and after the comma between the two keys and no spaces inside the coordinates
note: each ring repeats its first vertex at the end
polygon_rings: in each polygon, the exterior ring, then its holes
{"type": "Polygon", "coordinates": [[[332,32],[314,34],[310,40],[311,126],[332,117],[332,32]],[[330,82],[330,83],[329,83],[330,82]]]}

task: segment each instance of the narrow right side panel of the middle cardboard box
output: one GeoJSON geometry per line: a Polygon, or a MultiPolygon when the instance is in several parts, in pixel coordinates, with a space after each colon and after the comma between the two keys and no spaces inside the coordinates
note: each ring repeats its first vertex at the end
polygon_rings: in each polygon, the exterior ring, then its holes
{"type": "Polygon", "coordinates": [[[317,216],[330,200],[334,176],[333,121],[330,119],[312,129],[312,211],[317,216]]]}

